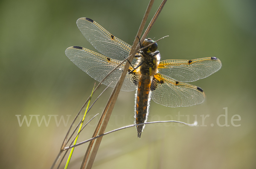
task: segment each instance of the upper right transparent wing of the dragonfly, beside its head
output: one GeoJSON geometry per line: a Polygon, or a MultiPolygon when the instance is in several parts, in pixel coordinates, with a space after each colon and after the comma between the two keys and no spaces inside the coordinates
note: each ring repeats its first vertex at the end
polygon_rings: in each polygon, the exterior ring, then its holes
{"type": "Polygon", "coordinates": [[[163,60],[158,71],[180,82],[192,82],[203,79],[221,69],[217,57],[205,57],[193,60],[163,60]]]}

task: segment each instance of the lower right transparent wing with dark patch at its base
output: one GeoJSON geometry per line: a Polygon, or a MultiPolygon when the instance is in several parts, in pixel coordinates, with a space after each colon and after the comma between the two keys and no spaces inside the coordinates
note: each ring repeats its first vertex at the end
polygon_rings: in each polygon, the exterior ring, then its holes
{"type": "Polygon", "coordinates": [[[169,107],[186,107],[204,101],[201,88],[177,82],[162,74],[156,74],[151,83],[151,98],[154,102],[169,107]]]}

